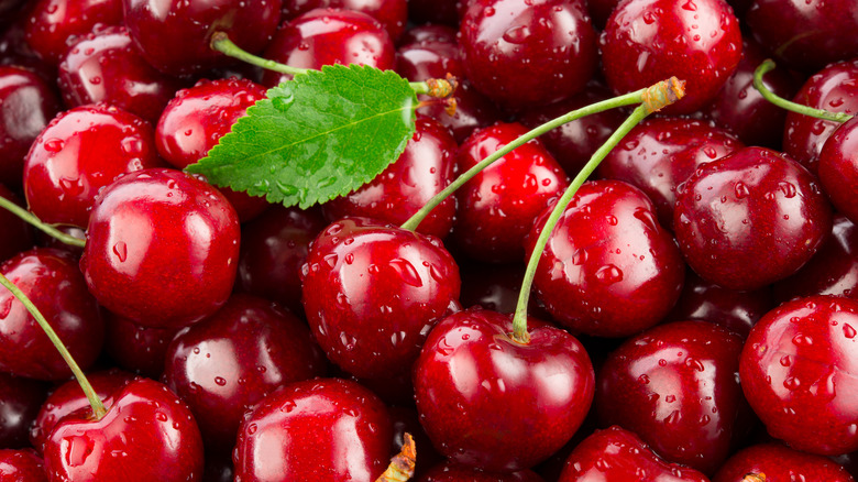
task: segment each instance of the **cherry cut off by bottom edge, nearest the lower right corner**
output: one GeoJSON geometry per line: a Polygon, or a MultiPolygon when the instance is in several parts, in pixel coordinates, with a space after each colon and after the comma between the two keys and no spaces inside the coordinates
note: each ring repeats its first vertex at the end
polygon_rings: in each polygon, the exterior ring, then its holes
{"type": "Polygon", "coordinates": [[[766,474],[766,482],[854,482],[836,462],[780,443],[761,443],[738,451],[724,462],[712,481],[744,482],[748,473],[766,474]]]}

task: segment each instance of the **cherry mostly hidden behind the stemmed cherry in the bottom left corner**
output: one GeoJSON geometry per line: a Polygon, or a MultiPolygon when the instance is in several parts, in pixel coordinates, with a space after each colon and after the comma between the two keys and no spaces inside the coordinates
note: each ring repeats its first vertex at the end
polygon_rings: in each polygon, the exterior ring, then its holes
{"type": "MultiPolygon", "coordinates": [[[[122,390],[133,379],[134,376],[131,373],[120,370],[87,374],[87,380],[89,380],[101,401],[122,390]]],[[[42,404],[35,420],[33,420],[33,425],[30,428],[30,442],[33,443],[38,453],[43,453],[47,438],[54,430],[54,427],[56,427],[56,424],[66,415],[88,407],[89,401],[77,380],[69,380],[59,385],[48,395],[45,403],[42,404]]]]}

